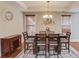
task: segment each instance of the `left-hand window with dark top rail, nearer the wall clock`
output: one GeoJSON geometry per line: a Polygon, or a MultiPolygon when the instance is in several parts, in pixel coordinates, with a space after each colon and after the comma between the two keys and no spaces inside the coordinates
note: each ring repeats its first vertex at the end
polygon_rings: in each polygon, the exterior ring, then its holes
{"type": "Polygon", "coordinates": [[[35,15],[26,15],[26,31],[28,35],[35,35],[36,33],[36,20],[35,15]]]}

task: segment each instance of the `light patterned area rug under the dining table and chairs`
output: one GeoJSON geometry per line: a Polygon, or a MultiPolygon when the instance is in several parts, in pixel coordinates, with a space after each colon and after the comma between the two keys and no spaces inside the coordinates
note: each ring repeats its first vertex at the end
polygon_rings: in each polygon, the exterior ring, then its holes
{"type": "MultiPolygon", "coordinates": [[[[45,58],[44,51],[40,51],[38,58],[45,58]]],[[[50,51],[50,54],[53,53],[53,51],[50,51]]],[[[22,50],[16,58],[35,58],[36,56],[33,54],[33,50],[26,50],[25,54],[22,50]]],[[[49,58],[57,58],[57,55],[50,55],[49,58]]],[[[62,50],[61,54],[59,55],[59,58],[79,58],[79,52],[75,50],[73,47],[70,47],[70,53],[68,50],[62,50]]]]}

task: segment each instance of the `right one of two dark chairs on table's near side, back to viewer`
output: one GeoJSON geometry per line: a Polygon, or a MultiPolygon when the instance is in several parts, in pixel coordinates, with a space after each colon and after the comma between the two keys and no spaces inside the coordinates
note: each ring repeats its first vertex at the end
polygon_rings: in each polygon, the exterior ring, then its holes
{"type": "MultiPolygon", "coordinates": [[[[53,51],[53,55],[57,55],[59,57],[60,54],[60,38],[59,34],[48,34],[49,39],[49,54],[53,51]]],[[[51,55],[51,54],[50,54],[51,55]]]]}

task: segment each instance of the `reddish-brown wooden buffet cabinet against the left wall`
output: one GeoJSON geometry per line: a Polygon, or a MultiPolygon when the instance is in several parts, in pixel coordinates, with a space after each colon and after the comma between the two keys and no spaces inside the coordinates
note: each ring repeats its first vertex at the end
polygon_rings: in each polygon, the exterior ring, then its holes
{"type": "Polygon", "coordinates": [[[20,34],[1,38],[1,57],[4,57],[6,54],[11,55],[18,48],[21,49],[20,34]]]}

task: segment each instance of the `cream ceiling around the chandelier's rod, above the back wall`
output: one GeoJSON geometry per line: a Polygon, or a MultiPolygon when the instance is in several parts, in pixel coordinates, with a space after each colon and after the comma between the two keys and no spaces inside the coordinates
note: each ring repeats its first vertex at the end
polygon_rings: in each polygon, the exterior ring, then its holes
{"type": "MultiPolygon", "coordinates": [[[[26,12],[44,12],[47,11],[47,2],[46,1],[20,1],[22,6],[26,6],[26,12]]],[[[69,12],[74,10],[75,7],[79,11],[79,1],[50,1],[49,2],[49,11],[53,12],[69,12]]]]}

